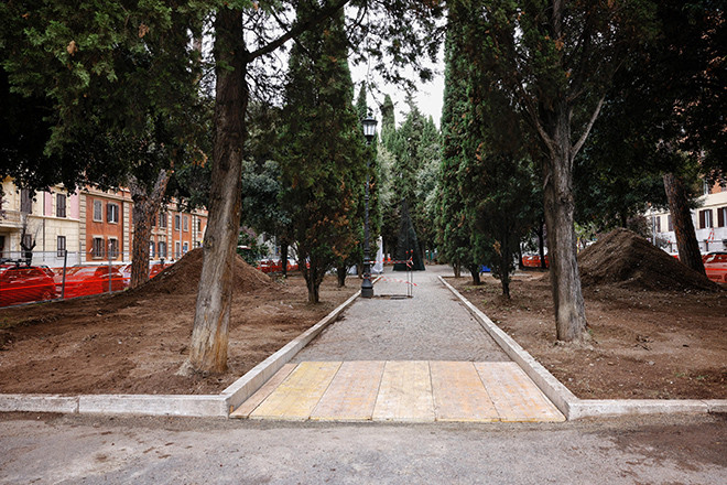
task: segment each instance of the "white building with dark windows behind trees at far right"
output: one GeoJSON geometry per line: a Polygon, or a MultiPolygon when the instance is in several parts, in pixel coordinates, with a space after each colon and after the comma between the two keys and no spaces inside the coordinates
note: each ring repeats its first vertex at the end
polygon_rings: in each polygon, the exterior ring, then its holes
{"type": "MultiPolygon", "coordinates": [[[[692,222],[699,249],[702,252],[727,250],[727,187],[705,184],[704,195],[698,202],[699,207],[692,211],[692,222]]],[[[666,240],[665,249],[669,252],[676,252],[676,237],[671,214],[654,211],[647,216],[651,217],[654,235],[666,240]]]]}

